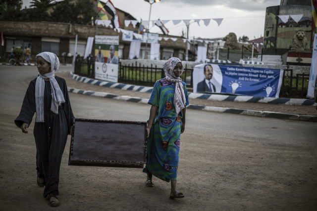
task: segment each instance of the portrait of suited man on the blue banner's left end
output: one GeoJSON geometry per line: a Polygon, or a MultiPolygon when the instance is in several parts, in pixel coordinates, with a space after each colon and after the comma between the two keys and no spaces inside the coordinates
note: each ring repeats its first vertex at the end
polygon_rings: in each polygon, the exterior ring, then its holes
{"type": "Polygon", "coordinates": [[[221,91],[222,74],[218,65],[202,64],[193,72],[194,92],[216,93],[221,91]]]}

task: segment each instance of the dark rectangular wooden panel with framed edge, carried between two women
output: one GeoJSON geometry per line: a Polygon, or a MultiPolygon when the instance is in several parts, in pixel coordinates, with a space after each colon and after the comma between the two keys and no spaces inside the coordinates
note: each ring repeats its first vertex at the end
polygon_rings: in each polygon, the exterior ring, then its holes
{"type": "Polygon", "coordinates": [[[147,122],[74,119],[70,166],[143,168],[147,122]]]}

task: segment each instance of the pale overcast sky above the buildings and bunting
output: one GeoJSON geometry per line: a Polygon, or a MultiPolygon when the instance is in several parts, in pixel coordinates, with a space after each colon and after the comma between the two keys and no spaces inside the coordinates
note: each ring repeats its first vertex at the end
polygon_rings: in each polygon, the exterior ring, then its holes
{"type": "MultiPolygon", "coordinates": [[[[31,1],[23,0],[23,7],[28,6],[31,1]]],[[[106,0],[102,1],[106,2],[106,0]]],[[[145,0],[111,0],[111,2],[116,8],[130,13],[138,21],[149,20],[150,3],[145,0]]],[[[152,4],[151,20],[223,18],[220,26],[214,20],[211,20],[209,26],[205,26],[203,21],[200,21],[198,26],[192,20],[189,26],[189,38],[222,38],[233,32],[238,38],[246,35],[253,40],[264,34],[266,7],[279,4],[280,0],[161,0],[152,4]]],[[[182,30],[187,33],[187,27],[183,22],[174,25],[170,21],[165,27],[169,30],[169,35],[181,36],[182,30]]],[[[150,32],[161,34],[157,26],[150,27],[150,32]]]]}

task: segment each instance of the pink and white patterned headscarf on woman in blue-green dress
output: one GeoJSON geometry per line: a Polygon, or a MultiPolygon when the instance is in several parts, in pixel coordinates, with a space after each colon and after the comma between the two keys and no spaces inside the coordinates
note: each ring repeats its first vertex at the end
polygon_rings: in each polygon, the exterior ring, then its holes
{"type": "MultiPolygon", "coordinates": [[[[182,61],[177,57],[172,57],[168,59],[163,66],[163,70],[165,72],[165,80],[175,83],[174,106],[177,115],[183,108],[185,108],[186,104],[186,97],[184,86],[182,85],[182,79],[180,77],[176,78],[173,72],[175,66],[178,63],[182,63],[182,61]]],[[[182,75],[183,72],[184,68],[182,67],[180,75],[182,75]]]]}

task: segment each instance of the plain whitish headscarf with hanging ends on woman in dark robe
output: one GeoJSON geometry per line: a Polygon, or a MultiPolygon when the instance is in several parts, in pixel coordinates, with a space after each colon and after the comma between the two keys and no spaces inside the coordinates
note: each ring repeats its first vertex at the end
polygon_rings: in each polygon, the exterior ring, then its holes
{"type": "Polygon", "coordinates": [[[42,52],[36,55],[36,59],[41,56],[45,61],[51,63],[51,72],[39,76],[35,84],[35,104],[36,104],[36,118],[35,122],[44,122],[44,79],[50,79],[51,89],[52,89],[52,104],[51,111],[58,114],[58,106],[65,102],[64,95],[60,90],[57,81],[55,80],[54,72],[58,70],[59,60],[58,57],[51,52],[42,52]]]}

